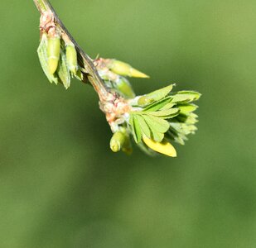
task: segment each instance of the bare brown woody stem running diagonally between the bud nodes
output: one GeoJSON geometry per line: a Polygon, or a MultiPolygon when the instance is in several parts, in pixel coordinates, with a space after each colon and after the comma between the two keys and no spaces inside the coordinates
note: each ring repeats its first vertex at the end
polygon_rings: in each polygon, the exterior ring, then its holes
{"type": "Polygon", "coordinates": [[[85,74],[89,83],[92,84],[94,90],[99,95],[99,100],[101,102],[108,102],[114,98],[112,93],[109,93],[108,88],[105,87],[103,80],[99,77],[98,71],[94,66],[93,60],[81,49],[80,45],[75,41],[75,39],[70,35],[70,32],[66,29],[63,22],[58,17],[56,11],[51,6],[51,3],[48,0],[33,0],[36,4],[38,11],[42,14],[44,12],[51,12],[54,17],[56,26],[60,31],[67,36],[70,41],[75,45],[75,49],[78,55],[78,62],[80,67],[85,70],[85,74]]]}

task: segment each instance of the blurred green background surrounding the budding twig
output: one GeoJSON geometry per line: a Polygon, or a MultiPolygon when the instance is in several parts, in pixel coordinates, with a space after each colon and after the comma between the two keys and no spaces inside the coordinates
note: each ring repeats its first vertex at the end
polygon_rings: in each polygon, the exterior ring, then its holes
{"type": "Polygon", "coordinates": [[[0,247],[256,247],[256,2],[51,1],[85,51],[203,93],[178,158],[109,150],[93,88],[48,83],[32,1],[2,1],[0,247]]]}

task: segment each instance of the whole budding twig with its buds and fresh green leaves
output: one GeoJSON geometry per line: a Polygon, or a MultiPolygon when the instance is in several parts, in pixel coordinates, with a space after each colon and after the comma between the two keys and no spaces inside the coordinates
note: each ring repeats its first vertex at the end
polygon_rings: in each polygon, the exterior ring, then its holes
{"type": "Polygon", "coordinates": [[[174,84],[136,96],[128,78],[149,78],[130,64],[114,59],[93,60],[66,30],[48,0],[34,0],[41,13],[37,53],[50,83],[70,88],[72,78],[89,83],[99,96],[113,136],[110,149],[130,155],[132,140],[148,155],[176,157],[173,142],[184,145],[195,134],[196,91],[173,92],[174,84]]]}

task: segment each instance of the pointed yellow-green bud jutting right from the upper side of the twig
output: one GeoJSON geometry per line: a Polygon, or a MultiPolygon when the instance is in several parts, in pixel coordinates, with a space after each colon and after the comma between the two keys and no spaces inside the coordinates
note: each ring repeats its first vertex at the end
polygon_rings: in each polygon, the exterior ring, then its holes
{"type": "Polygon", "coordinates": [[[128,76],[133,78],[143,78],[148,79],[149,77],[146,74],[134,69],[130,64],[126,64],[122,61],[118,60],[110,60],[111,62],[108,64],[109,69],[112,70],[115,74],[119,74],[121,76],[128,76]]]}

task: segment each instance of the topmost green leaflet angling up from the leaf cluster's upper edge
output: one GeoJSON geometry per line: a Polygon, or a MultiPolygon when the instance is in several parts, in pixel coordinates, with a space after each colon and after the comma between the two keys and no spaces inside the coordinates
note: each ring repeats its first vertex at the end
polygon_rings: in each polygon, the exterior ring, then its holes
{"type": "Polygon", "coordinates": [[[167,96],[167,94],[171,92],[172,88],[173,88],[173,84],[171,84],[165,88],[157,89],[156,91],[153,91],[152,93],[148,93],[147,95],[142,96],[141,98],[138,99],[138,104],[145,106],[148,103],[159,101],[162,98],[165,98],[167,96]]]}

